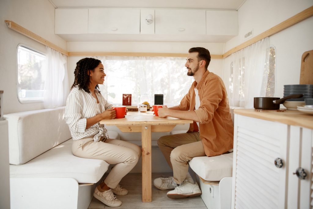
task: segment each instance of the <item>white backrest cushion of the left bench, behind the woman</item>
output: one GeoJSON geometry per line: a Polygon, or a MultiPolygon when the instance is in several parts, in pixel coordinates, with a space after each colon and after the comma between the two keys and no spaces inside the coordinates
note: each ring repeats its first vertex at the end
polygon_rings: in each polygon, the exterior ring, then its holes
{"type": "Polygon", "coordinates": [[[65,107],[4,115],[8,120],[9,161],[22,165],[71,138],[65,107]]]}

